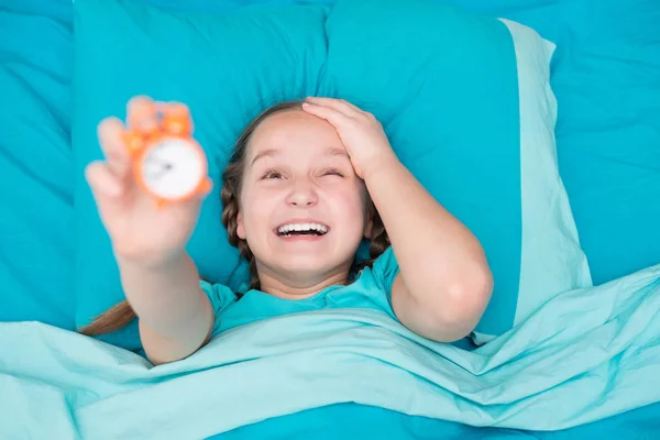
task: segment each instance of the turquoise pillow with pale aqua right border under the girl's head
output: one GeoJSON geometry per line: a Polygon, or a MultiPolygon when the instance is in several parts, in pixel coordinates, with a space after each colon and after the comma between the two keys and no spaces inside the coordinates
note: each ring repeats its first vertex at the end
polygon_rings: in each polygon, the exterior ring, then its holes
{"type": "MultiPolygon", "coordinates": [[[[501,334],[550,296],[591,283],[557,173],[552,46],[534,31],[409,0],[231,15],[125,0],[75,7],[79,326],[123,299],[82,172],[101,157],[98,122],[124,117],[139,94],[193,110],[216,185],[188,250],[213,282],[238,288],[246,279],[220,222],[233,142],[265,107],[320,95],[372,111],[402,161],[484,244],[495,293],[479,334],[501,334]]],[[[129,337],[114,342],[136,346],[129,337]]]]}

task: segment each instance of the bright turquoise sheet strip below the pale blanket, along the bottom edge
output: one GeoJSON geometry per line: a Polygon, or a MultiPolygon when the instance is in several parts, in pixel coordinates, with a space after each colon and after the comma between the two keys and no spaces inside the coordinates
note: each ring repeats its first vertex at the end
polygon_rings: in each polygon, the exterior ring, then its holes
{"type": "Polygon", "coordinates": [[[331,405],[276,417],[213,436],[212,440],[654,440],[660,404],[559,431],[479,428],[358,404],[331,405]]]}

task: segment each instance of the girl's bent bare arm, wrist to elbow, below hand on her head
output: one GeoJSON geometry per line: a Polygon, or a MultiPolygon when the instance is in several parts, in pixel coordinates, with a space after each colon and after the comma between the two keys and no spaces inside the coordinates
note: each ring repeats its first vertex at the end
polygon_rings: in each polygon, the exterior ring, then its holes
{"type": "Polygon", "coordinates": [[[394,155],[385,157],[364,177],[400,268],[392,288],[394,311],[418,334],[459,340],[491,298],[484,251],[394,155]]]}

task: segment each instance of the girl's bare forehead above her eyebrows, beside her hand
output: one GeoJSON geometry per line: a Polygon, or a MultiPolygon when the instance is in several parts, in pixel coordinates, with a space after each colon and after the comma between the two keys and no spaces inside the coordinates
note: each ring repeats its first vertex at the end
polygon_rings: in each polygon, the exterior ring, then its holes
{"type": "Polygon", "coordinates": [[[301,153],[328,148],[344,150],[334,128],[327,121],[298,109],[268,117],[254,130],[250,141],[251,156],[265,150],[301,153]]]}

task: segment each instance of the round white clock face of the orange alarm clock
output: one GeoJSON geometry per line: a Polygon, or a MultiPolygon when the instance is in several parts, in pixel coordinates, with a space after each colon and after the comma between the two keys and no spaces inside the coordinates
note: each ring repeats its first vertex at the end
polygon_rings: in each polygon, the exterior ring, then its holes
{"type": "Polygon", "coordinates": [[[168,138],[148,148],[141,163],[144,185],[163,199],[188,196],[204,179],[204,156],[190,142],[168,138]]]}

